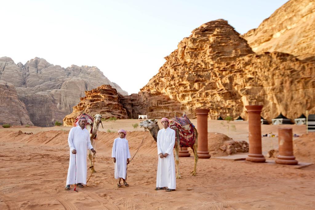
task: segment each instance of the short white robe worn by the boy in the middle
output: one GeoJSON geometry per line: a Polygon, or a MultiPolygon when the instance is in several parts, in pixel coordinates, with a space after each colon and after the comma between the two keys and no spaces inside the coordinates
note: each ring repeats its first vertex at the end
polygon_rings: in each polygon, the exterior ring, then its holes
{"type": "Polygon", "coordinates": [[[127,158],[130,158],[129,145],[127,139],[117,138],[114,140],[112,157],[116,158],[115,179],[126,179],[127,158]]]}

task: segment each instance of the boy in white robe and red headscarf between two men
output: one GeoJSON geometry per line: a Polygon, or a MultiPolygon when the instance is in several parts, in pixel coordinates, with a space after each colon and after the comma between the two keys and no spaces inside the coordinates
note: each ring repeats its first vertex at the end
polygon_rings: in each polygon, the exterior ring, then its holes
{"type": "Polygon", "coordinates": [[[112,148],[112,158],[115,163],[115,179],[118,179],[117,187],[121,187],[120,181],[123,179],[123,184],[127,184],[127,164],[129,164],[130,152],[128,140],[126,139],[127,132],[123,129],[118,131],[119,138],[116,138],[112,148]]]}

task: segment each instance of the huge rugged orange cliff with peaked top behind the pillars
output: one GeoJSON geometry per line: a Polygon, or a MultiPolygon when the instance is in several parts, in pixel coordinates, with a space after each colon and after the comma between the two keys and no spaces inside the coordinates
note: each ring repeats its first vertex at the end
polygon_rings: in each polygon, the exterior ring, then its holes
{"type": "Polygon", "coordinates": [[[165,59],[138,97],[146,92],[166,95],[190,117],[196,108],[209,108],[211,119],[247,119],[245,105],[264,105],[267,120],[280,112],[289,118],[315,112],[314,62],[285,53],[255,54],[225,20],[195,29],[165,59]]]}

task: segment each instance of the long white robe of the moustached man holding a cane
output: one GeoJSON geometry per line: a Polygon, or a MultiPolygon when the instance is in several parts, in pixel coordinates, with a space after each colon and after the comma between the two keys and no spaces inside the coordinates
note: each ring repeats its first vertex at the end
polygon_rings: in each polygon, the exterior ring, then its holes
{"type": "Polygon", "coordinates": [[[70,161],[66,184],[86,184],[87,149],[93,149],[89,131],[86,128],[82,130],[79,126],[71,128],[68,143],[70,147],[70,161]],[[77,150],[77,154],[72,154],[72,150],[77,150]]]}

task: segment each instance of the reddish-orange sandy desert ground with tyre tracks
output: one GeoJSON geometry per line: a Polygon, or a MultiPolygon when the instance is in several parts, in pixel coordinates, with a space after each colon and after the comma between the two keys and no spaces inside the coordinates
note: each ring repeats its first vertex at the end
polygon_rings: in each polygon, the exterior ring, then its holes
{"type": "MultiPolygon", "coordinates": [[[[88,184],[97,186],[65,191],[69,164],[67,135],[70,127],[23,127],[0,129],[0,209],[314,209],[315,166],[294,166],[199,159],[197,176],[190,175],[192,157],[180,158],[182,179],[173,192],[155,191],[156,143],[140,120],[103,122],[96,143],[94,173],[88,184]],[[131,156],[142,139],[139,152],[128,167],[129,187],[116,188],[111,148],[117,130],[128,130],[131,156]],[[114,131],[109,133],[108,129],[114,131]],[[20,131],[20,132],[19,132],[20,131]],[[24,133],[33,134],[24,134],[24,133]]],[[[197,125],[196,120],[192,122],[197,125]]],[[[209,120],[208,131],[248,141],[248,122],[209,120]],[[234,125],[234,126],[232,126],[234,125]]],[[[160,126],[161,127],[161,126],[160,126]]],[[[291,127],[306,133],[304,125],[263,125],[262,134],[291,127]]],[[[220,139],[208,139],[210,142],[220,139]]],[[[278,138],[262,138],[263,153],[278,147],[278,138]]],[[[296,159],[315,162],[315,136],[294,138],[296,159]]],[[[211,148],[209,148],[211,149],[211,148]]],[[[90,172],[88,171],[88,176],[90,172]]]]}

